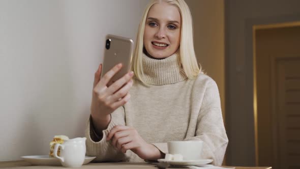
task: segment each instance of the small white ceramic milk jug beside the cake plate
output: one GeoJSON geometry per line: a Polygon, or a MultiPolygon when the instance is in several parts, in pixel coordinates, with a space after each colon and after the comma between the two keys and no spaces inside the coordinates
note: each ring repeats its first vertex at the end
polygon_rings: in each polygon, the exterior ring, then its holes
{"type": "Polygon", "coordinates": [[[80,167],[85,159],[85,137],[65,140],[63,144],[57,143],[54,147],[54,157],[58,158],[65,167],[80,167]],[[58,147],[61,147],[60,157],[57,156],[58,147]]]}

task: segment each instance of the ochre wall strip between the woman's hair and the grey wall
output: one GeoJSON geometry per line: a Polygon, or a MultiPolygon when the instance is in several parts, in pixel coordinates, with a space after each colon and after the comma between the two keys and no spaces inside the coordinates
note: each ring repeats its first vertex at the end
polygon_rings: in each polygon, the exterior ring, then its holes
{"type": "Polygon", "coordinates": [[[194,22],[194,46],[204,72],[219,87],[225,119],[224,0],[186,0],[194,22]]]}

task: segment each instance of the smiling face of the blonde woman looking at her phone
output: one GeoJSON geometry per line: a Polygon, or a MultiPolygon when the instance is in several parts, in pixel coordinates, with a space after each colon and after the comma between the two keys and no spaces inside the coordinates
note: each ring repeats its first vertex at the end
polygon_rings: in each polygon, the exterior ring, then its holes
{"type": "Polygon", "coordinates": [[[153,58],[167,58],[178,49],[181,37],[181,15],[167,3],[153,5],[147,15],[144,47],[153,58]]]}

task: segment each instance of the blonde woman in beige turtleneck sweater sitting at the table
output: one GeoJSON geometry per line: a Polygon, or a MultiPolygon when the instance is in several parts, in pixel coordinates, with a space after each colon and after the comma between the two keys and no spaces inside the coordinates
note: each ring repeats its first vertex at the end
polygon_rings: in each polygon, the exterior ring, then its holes
{"type": "Polygon", "coordinates": [[[151,1],[136,43],[132,72],[109,87],[122,65],[101,79],[101,65],[95,73],[87,155],[97,161],[157,160],[171,140],[202,140],[202,157],[221,165],[228,139],[219,91],[197,65],[184,0],[151,1]]]}

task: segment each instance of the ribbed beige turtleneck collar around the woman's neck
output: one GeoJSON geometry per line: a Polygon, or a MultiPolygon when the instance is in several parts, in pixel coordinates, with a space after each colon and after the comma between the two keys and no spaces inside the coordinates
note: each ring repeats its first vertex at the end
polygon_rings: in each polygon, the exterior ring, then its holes
{"type": "Polygon", "coordinates": [[[179,52],[161,60],[149,58],[143,53],[142,64],[143,80],[150,85],[168,85],[187,78],[179,61],[179,52]]]}

